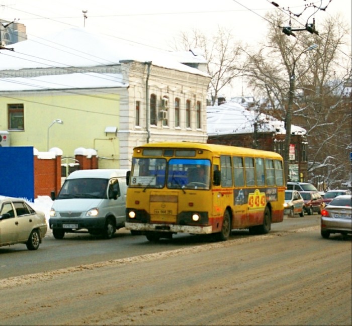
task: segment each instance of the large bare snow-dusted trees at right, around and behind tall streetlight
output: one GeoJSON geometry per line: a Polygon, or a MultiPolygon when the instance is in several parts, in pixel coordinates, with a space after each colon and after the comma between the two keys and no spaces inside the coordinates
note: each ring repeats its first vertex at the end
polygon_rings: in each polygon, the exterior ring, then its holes
{"type": "Polygon", "coordinates": [[[350,37],[346,24],[335,17],[319,26],[319,35],[300,32],[295,38],[277,28],[284,25],[280,14],[267,19],[266,43],[247,51],[248,85],[266,98],[272,115],[286,120],[294,78],[292,123],[307,130],[309,179],[323,176],[327,187],[340,186],[350,179],[351,98],[345,86],[351,54],[341,51],[350,37]],[[307,51],[313,44],[318,48],[307,51]]]}

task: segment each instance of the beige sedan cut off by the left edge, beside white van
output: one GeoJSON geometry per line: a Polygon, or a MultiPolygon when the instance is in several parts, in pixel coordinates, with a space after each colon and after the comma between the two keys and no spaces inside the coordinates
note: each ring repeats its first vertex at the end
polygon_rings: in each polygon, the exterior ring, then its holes
{"type": "Polygon", "coordinates": [[[25,244],[27,249],[37,250],[47,229],[44,212],[35,211],[23,199],[0,199],[0,247],[25,244]]]}

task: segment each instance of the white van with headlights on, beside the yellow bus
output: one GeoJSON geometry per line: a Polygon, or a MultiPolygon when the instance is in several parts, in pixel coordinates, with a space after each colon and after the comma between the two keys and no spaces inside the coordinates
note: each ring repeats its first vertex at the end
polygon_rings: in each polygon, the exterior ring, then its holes
{"type": "Polygon", "coordinates": [[[50,210],[49,227],[55,239],[77,231],[113,237],[126,221],[127,170],[96,169],[72,172],[50,210]]]}

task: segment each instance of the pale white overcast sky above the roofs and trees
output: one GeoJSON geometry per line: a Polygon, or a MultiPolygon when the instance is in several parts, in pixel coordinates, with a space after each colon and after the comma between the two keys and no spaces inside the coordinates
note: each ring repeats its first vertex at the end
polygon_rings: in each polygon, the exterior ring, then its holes
{"type": "Polygon", "coordinates": [[[299,18],[293,17],[293,25],[302,27],[309,17],[309,22],[314,17],[317,30],[319,20],[336,13],[340,13],[349,26],[351,23],[349,0],[276,0],[276,3],[279,7],[269,0],[0,0],[0,19],[16,19],[26,25],[29,39],[70,27],[86,27],[167,50],[181,32],[198,29],[210,36],[219,26],[231,30],[236,40],[262,41],[268,29],[264,18],[268,11],[281,10],[287,14],[288,21],[288,9],[295,14],[303,12],[299,18]],[[327,5],[327,9],[304,10],[310,3],[320,7],[327,5]]]}

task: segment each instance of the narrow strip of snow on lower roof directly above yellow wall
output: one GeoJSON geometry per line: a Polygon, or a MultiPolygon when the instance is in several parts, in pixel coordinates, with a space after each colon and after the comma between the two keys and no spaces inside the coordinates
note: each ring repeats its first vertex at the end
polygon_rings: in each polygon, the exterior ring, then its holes
{"type": "Polygon", "coordinates": [[[14,77],[0,79],[0,91],[127,87],[122,74],[72,73],[40,77],[14,77]]]}

